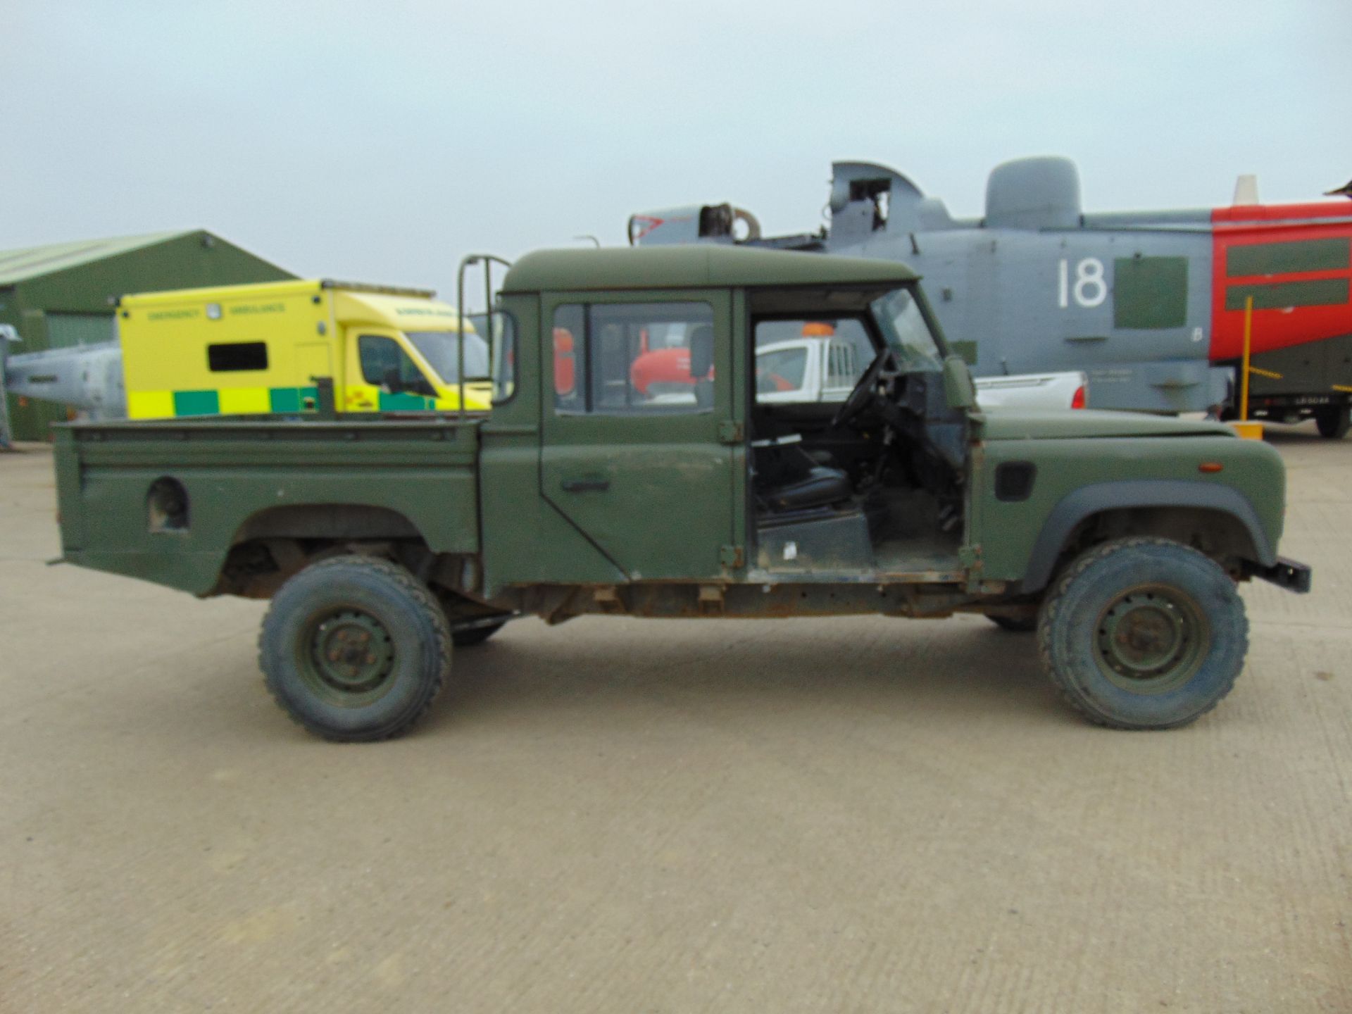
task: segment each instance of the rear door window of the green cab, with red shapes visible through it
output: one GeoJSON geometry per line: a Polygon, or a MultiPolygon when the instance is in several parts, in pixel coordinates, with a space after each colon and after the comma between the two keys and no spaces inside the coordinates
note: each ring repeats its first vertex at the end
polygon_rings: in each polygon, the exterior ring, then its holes
{"type": "Polygon", "coordinates": [[[713,410],[708,303],[568,303],[554,311],[553,343],[558,412],[713,410]]]}

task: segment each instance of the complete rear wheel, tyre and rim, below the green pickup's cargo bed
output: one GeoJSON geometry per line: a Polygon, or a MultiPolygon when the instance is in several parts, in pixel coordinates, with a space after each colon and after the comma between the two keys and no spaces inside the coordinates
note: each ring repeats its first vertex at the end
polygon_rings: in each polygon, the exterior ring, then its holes
{"type": "Polygon", "coordinates": [[[307,566],[273,596],[258,635],[268,691],[326,740],[403,735],[450,673],[450,626],[427,587],[366,556],[307,566]]]}

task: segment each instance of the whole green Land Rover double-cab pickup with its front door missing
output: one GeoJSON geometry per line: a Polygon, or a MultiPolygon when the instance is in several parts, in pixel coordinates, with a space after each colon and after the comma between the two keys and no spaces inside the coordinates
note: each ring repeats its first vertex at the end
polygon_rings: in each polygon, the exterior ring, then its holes
{"type": "Polygon", "coordinates": [[[982,612],[1036,629],[1090,721],[1163,729],[1240,672],[1238,581],[1310,585],[1278,556],[1276,452],[1210,422],[979,411],[903,265],[541,251],[484,330],[481,415],[59,427],[65,560],[270,598],[266,684],[333,740],[408,730],[453,648],[515,617],[588,612],[982,612]],[[845,402],[757,402],[757,329],[784,322],[863,326],[845,402]],[[691,383],[639,391],[653,349],[688,353],[691,383]]]}

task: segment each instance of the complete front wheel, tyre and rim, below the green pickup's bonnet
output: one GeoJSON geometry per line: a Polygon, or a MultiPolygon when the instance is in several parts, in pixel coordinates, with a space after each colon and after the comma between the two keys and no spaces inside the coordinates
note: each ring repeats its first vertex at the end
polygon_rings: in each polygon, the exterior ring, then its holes
{"type": "Polygon", "coordinates": [[[1113,729],[1172,729],[1230,692],[1248,652],[1234,581],[1163,538],[1122,538],[1078,557],[1042,603],[1042,668],[1065,702],[1113,729]]]}

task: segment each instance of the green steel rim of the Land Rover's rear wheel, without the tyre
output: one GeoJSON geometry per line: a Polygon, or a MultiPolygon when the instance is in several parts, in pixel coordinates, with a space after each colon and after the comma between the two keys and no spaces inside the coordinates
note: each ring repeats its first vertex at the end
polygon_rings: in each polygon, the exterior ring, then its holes
{"type": "Polygon", "coordinates": [[[385,625],[362,608],[347,607],[311,619],[299,638],[296,661],[320,699],[364,707],[389,690],[395,658],[385,625]]]}

